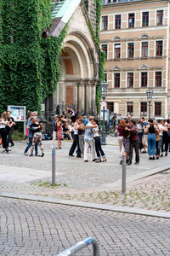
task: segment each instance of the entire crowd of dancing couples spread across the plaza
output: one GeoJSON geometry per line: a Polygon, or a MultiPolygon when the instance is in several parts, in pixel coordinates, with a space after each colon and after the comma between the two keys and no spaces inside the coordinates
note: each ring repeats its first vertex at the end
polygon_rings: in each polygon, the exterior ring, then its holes
{"type": "MultiPolygon", "coordinates": [[[[96,163],[105,162],[106,157],[101,147],[99,135],[99,120],[93,116],[87,118],[85,113],[77,116],[77,113],[70,108],[66,108],[66,111],[61,116],[54,115],[51,148],[61,149],[62,140],[64,138],[69,139],[72,141],[69,150],[70,156],[74,156],[76,152],[78,158],[83,158],[84,162],[88,162],[88,152],[91,151],[93,161],[96,163]],[[56,140],[57,147],[54,147],[56,140]]],[[[10,153],[10,147],[14,146],[11,137],[14,125],[14,118],[11,117],[10,112],[3,112],[0,119],[2,154],[10,153]]],[[[140,117],[138,121],[132,119],[131,116],[118,119],[115,113],[113,126],[116,127],[115,133],[120,148],[121,165],[123,154],[126,155],[127,165],[132,164],[133,151],[135,153],[135,165],[139,164],[139,152],[141,154],[148,152],[149,160],[158,160],[160,157],[167,156],[168,151],[170,152],[170,119],[149,119],[148,122],[145,122],[144,117],[140,117]]],[[[37,116],[36,111],[28,111],[26,132],[28,143],[24,154],[32,156],[35,150],[35,156],[43,157],[42,120],[37,116]],[[38,154],[38,146],[41,155],[38,154]],[[29,148],[30,154],[28,154],[29,148]]]]}

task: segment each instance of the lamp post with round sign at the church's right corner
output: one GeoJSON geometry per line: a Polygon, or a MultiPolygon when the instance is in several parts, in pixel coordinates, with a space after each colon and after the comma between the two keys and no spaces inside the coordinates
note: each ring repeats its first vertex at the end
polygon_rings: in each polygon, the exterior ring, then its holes
{"type": "Polygon", "coordinates": [[[103,127],[102,127],[102,133],[101,133],[101,144],[106,145],[105,142],[105,96],[107,94],[107,86],[108,84],[105,83],[105,80],[100,84],[101,86],[101,96],[103,99],[102,106],[103,106],[103,127]]]}

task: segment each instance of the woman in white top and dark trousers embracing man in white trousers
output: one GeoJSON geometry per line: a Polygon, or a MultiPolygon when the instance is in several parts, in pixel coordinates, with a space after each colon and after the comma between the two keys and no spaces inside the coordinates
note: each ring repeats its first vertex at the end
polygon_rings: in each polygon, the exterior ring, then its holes
{"type": "Polygon", "coordinates": [[[96,154],[97,154],[97,160],[95,161],[96,163],[100,163],[102,162],[106,162],[106,158],[105,158],[105,153],[103,151],[103,149],[101,148],[101,141],[100,141],[100,137],[99,137],[99,121],[98,119],[94,119],[92,121],[93,125],[97,125],[97,127],[94,130],[94,140],[95,140],[95,150],[96,150],[96,154]],[[103,158],[103,160],[101,160],[101,156],[103,158]]]}

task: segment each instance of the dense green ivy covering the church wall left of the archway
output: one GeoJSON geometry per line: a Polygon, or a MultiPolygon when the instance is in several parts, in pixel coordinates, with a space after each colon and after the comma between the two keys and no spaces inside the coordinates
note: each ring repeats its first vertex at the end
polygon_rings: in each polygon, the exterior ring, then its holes
{"type": "Polygon", "coordinates": [[[7,105],[40,110],[61,76],[59,38],[42,38],[51,24],[51,0],[0,0],[0,112],[7,105]]]}

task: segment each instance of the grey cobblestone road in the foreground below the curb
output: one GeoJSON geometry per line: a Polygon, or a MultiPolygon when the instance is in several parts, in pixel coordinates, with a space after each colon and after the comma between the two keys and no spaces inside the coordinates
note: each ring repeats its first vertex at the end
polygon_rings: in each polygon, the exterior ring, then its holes
{"type": "MultiPolygon", "coordinates": [[[[170,220],[0,198],[0,255],[56,255],[88,236],[101,256],[170,255],[170,220]]],[[[77,256],[93,255],[92,247],[77,256]]]]}

